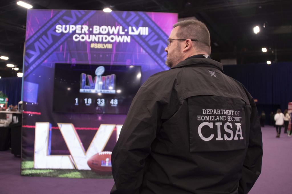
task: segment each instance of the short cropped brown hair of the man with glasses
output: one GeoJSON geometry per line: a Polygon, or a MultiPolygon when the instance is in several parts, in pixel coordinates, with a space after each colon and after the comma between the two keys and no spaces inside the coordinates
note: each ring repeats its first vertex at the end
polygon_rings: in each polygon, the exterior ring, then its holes
{"type": "Polygon", "coordinates": [[[177,22],[173,28],[180,27],[176,36],[182,39],[196,39],[194,47],[201,51],[206,51],[211,54],[211,40],[208,28],[199,20],[185,20],[177,22]]]}

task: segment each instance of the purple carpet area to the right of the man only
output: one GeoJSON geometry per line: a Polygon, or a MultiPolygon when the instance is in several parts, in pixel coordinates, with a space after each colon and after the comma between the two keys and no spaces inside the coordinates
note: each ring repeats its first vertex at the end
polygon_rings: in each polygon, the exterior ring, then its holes
{"type": "Polygon", "coordinates": [[[262,173],[249,194],[291,194],[292,137],[282,128],[280,138],[276,138],[276,129],[272,126],[262,128],[262,134],[262,173]]]}

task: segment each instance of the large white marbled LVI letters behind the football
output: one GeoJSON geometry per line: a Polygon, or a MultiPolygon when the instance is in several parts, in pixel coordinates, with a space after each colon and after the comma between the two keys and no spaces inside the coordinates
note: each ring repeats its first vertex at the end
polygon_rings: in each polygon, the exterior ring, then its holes
{"type": "Polygon", "coordinates": [[[87,160],[103,151],[109,137],[117,127],[117,139],[122,125],[101,124],[96,132],[87,151],[85,151],[79,135],[71,123],[58,123],[62,136],[71,155],[50,155],[51,154],[51,124],[36,123],[34,143],[34,168],[56,168],[91,170],[87,160]]]}

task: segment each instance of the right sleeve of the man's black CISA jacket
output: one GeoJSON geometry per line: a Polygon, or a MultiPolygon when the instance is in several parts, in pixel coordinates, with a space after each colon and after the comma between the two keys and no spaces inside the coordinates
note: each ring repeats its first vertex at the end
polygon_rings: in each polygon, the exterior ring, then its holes
{"type": "Polygon", "coordinates": [[[251,104],[250,134],[246,157],[242,168],[242,177],[239,180],[239,194],[246,194],[251,190],[253,184],[260,176],[262,169],[263,142],[258,111],[254,100],[251,99],[249,101],[251,104]]]}

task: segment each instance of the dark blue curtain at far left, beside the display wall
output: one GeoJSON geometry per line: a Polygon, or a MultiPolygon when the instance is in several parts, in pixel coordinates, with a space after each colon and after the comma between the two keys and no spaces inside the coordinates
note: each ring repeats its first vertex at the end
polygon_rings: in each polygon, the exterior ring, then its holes
{"type": "Polygon", "coordinates": [[[0,79],[0,91],[8,97],[8,105],[17,105],[21,100],[21,83],[20,77],[6,77],[0,79]]]}

